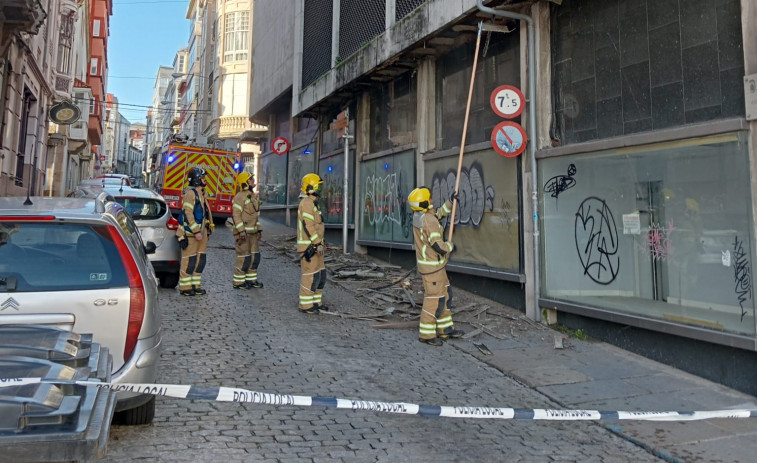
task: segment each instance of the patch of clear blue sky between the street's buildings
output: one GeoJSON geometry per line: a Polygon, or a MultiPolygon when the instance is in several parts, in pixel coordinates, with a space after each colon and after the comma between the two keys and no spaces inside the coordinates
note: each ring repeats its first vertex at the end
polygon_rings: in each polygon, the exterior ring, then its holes
{"type": "MultiPolygon", "coordinates": [[[[188,0],[113,0],[108,39],[108,88],[121,104],[149,106],[159,66],[171,66],[187,46],[188,0]]],[[[144,122],[147,108],[121,106],[131,123],[144,122]]]]}

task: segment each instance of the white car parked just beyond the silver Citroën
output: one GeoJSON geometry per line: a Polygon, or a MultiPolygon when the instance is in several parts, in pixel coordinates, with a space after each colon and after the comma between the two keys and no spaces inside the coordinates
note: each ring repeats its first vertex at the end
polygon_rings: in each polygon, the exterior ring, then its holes
{"type": "Polygon", "coordinates": [[[179,283],[181,249],[176,240],[179,222],[171,215],[163,197],[150,190],[120,185],[79,185],[70,197],[96,197],[106,192],[126,209],[134,219],[144,241],[155,243],[156,250],[150,254],[150,262],[163,288],[175,288],[179,283]]]}

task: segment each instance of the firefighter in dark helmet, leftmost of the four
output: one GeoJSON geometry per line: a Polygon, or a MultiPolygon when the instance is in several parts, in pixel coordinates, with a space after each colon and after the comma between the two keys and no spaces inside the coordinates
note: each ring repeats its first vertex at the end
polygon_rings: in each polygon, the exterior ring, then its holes
{"type": "Polygon", "coordinates": [[[179,269],[179,293],[183,296],[203,295],[200,288],[202,271],[205,269],[205,254],[208,237],[213,233],[213,216],[205,197],[205,169],[193,167],[187,174],[189,187],[182,195],[183,204],[179,213],[179,229],[176,235],[181,246],[179,269]]]}

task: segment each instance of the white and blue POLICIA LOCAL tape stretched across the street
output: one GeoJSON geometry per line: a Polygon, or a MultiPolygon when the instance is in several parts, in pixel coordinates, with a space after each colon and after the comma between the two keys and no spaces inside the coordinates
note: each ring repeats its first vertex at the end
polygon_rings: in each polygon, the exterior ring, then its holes
{"type": "MultiPolygon", "coordinates": [[[[445,418],[481,418],[500,420],[548,421],[697,421],[714,418],[757,418],[757,409],[709,411],[601,411],[518,409],[478,406],[418,405],[405,402],[339,399],[290,394],[271,394],[233,387],[183,386],[178,384],[102,383],[95,381],[48,380],[44,378],[0,378],[0,388],[29,384],[75,384],[115,392],[135,392],[178,399],[216,402],[252,403],[273,406],[326,407],[355,411],[372,411],[402,415],[440,416],[445,418]]],[[[1,394],[0,394],[1,395],[1,394]]]]}

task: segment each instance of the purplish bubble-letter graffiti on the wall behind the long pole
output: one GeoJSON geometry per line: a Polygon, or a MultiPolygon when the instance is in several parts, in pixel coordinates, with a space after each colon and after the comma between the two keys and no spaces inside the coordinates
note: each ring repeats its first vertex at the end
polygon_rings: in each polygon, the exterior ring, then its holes
{"type": "MultiPolygon", "coordinates": [[[[454,170],[435,172],[431,180],[431,197],[436,206],[441,206],[455,191],[457,175],[454,170]]],[[[472,225],[478,228],[484,212],[494,210],[494,187],[484,184],[484,170],[481,164],[474,162],[470,169],[460,171],[460,188],[458,205],[455,212],[455,225],[472,225]]],[[[443,226],[446,226],[444,219],[443,226]]]]}

